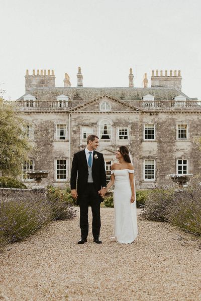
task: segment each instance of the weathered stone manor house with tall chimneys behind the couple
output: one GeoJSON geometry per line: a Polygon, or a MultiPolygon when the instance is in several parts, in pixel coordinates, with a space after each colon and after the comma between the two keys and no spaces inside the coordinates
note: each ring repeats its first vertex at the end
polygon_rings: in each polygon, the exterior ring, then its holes
{"type": "Polygon", "coordinates": [[[43,184],[68,186],[73,154],[93,133],[99,137],[97,150],[104,154],[108,181],[120,145],[130,149],[138,189],[170,183],[167,174],[199,173],[193,139],[201,133],[201,102],[181,91],[180,70],[152,71],[150,86],[145,74],[143,88],[134,87],[133,78],[130,69],[129,87],[83,87],[79,67],[77,87],[71,87],[67,73],[64,87],[55,87],[53,70],[27,70],[26,92],[17,105],[36,148],[24,171],[52,171],[43,184]]]}

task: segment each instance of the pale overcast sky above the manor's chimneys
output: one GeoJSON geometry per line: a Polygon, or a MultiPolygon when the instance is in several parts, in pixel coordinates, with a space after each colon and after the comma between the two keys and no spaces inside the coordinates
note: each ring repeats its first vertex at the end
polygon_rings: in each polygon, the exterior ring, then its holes
{"type": "Polygon", "coordinates": [[[201,99],[200,0],[0,0],[0,83],[25,93],[26,69],[54,69],[77,86],[134,86],[153,70],[181,70],[182,91],[201,99]]]}

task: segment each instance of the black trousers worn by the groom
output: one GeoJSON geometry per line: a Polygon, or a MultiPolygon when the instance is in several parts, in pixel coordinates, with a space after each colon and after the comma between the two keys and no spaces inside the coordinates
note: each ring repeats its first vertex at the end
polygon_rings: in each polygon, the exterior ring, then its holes
{"type": "Polygon", "coordinates": [[[88,235],[88,206],[91,205],[92,211],[92,234],[94,238],[98,238],[100,234],[100,196],[93,183],[87,183],[82,196],[79,196],[80,209],[80,229],[81,237],[87,238],[88,235]]]}

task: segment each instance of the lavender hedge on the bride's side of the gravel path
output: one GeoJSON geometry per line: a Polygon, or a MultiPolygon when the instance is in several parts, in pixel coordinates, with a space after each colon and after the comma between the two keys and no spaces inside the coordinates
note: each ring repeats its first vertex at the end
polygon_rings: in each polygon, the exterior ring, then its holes
{"type": "Polygon", "coordinates": [[[170,222],[182,230],[201,236],[201,176],[191,179],[187,188],[159,188],[147,197],[141,217],[170,222]]]}

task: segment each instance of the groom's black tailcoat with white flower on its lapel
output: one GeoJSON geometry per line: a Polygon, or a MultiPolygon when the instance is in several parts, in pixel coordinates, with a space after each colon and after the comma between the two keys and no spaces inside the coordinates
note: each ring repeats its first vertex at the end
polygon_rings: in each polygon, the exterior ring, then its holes
{"type": "MultiPolygon", "coordinates": [[[[106,171],[104,156],[93,150],[92,161],[92,178],[95,190],[98,192],[102,187],[106,187],[106,171]],[[97,155],[97,157],[95,156],[97,155]],[[96,157],[96,159],[94,158],[96,157]]],[[[84,193],[86,183],[88,180],[88,165],[86,161],[85,150],[81,150],[74,154],[71,169],[70,188],[76,189],[77,180],[77,204],[79,204],[79,198],[84,193]],[[77,175],[78,173],[78,175],[77,175]]]]}

